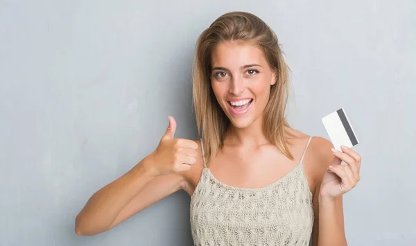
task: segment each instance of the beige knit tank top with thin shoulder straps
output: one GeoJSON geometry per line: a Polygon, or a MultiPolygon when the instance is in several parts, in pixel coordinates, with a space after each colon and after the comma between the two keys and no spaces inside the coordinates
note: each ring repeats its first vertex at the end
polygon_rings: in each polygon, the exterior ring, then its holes
{"type": "MultiPolygon", "coordinates": [[[[191,197],[194,245],[309,245],[313,226],[312,193],[302,161],[262,188],[219,182],[207,166],[191,197]]],[[[201,139],[201,145],[202,145],[201,139]]],[[[202,145],[202,156],[204,155],[202,145]]]]}

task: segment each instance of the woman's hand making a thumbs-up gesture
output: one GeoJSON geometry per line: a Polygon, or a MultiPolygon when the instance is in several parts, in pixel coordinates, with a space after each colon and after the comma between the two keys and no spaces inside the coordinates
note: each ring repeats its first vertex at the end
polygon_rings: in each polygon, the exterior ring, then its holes
{"type": "Polygon", "coordinates": [[[168,116],[169,125],[159,146],[149,155],[150,168],[155,175],[168,175],[187,171],[196,163],[198,143],[188,139],[175,139],[176,121],[168,116]]]}

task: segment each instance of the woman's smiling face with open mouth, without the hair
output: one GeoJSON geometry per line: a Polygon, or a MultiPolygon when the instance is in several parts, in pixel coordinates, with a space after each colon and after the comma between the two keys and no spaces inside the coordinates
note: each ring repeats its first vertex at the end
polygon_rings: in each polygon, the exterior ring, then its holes
{"type": "Polygon", "coordinates": [[[263,118],[276,73],[263,51],[252,44],[223,42],[211,54],[211,86],[216,100],[236,128],[263,118]]]}

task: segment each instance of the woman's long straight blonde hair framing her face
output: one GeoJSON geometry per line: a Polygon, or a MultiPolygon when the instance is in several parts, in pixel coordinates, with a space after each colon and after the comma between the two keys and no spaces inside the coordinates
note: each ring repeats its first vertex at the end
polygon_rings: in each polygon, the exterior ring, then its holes
{"type": "Polygon", "coordinates": [[[211,51],[225,41],[250,42],[259,46],[269,66],[277,71],[277,82],[270,87],[270,98],[264,110],[263,132],[270,143],[286,157],[293,155],[286,143],[285,117],[288,100],[288,67],[284,61],[277,36],[259,17],[248,12],[228,12],[204,30],[196,44],[193,64],[193,105],[198,134],[202,136],[205,161],[214,159],[223,148],[225,131],[230,121],[221,109],[211,88],[211,51]]]}

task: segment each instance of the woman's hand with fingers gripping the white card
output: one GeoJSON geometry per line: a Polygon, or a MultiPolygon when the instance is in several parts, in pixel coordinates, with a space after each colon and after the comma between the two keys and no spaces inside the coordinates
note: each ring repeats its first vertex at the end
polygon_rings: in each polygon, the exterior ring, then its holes
{"type": "Polygon", "coordinates": [[[332,149],[333,159],[322,178],[320,195],[336,198],[350,191],[360,180],[361,155],[351,148],[342,146],[343,151],[332,149]],[[347,165],[341,165],[344,161],[347,165]]]}

